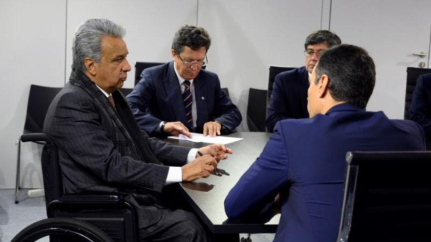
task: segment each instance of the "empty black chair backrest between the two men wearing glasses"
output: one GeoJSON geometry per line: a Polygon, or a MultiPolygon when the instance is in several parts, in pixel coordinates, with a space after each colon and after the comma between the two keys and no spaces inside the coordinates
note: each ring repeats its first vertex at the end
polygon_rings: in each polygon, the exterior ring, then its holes
{"type": "Polygon", "coordinates": [[[265,132],[267,90],[248,89],[247,125],[251,132],[265,132]]]}

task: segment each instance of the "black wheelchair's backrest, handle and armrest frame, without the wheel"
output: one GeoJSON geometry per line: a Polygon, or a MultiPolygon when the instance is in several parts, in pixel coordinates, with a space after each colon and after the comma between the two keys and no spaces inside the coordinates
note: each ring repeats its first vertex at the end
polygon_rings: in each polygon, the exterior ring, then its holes
{"type": "MultiPolygon", "coordinates": [[[[115,194],[63,194],[57,146],[45,133],[24,134],[23,141],[43,141],[42,174],[48,218],[72,218],[98,227],[115,242],[138,241],[138,216],[135,208],[115,194]]],[[[79,222],[79,221],[78,221],[79,222]]],[[[77,223],[78,223],[77,222],[77,223]]],[[[65,237],[50,236],[51,242],[65,237]]],[[[66,237],[66,240],[72,240],[66,237]]],[[[73,242],[77,242],[73,239],[73,242]]]]}

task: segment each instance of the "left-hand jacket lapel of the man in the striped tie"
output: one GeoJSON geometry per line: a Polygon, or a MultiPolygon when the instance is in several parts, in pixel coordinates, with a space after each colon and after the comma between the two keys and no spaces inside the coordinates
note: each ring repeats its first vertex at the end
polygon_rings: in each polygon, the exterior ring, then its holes
{"type": "Polygon", "coordinates": [[[168,73],[163,84],[165,86],[166,95],[168,96],[167,103],[169,103],[172,108],[175,120],[186,123],[186,111],[184,110],[181,88],[173,68],[173,62],[169,63],[168,73]]]}

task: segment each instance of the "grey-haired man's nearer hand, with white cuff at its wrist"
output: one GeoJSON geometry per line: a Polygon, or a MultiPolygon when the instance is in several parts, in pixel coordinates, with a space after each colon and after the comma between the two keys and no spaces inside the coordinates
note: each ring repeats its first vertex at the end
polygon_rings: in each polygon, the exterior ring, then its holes
{"type": "Polygon", "coordinates": [[[217,167],[217,161],[211,155],[204,155],[181,167],[183,181],[194,181],[200,177],[208,177],[217,167]]]}

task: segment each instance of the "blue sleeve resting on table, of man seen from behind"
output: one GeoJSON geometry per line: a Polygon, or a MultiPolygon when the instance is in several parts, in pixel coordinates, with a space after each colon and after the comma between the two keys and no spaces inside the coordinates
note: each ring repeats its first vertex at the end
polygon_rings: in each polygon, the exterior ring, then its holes
{"type": "Polygon", "coordinates": [[[227,195],[224,208],[229,219],[256,219],[287,183],[288,157],[282,133],[274,132],[262,154],[227,195]]]}

